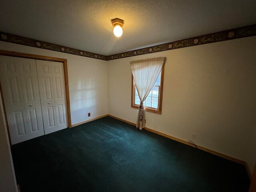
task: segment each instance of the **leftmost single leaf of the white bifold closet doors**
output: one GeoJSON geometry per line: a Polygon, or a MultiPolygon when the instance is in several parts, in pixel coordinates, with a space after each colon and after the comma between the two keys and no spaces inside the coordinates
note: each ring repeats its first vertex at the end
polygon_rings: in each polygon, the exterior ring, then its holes
{"type": "Polygon", "coordinates": [[[29,139],[19,66],[15,60],[0,56],[0,81],[12,144],[29,139]]]}

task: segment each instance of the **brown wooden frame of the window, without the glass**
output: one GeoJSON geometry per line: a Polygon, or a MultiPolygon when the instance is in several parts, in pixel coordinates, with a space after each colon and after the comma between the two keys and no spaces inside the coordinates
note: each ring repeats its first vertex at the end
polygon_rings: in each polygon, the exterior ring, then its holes
{"type": "MultiPolygon", "coordinates": [[[[147,107],[144,106],[144,110],[147,112],[151,112],[151,113],[156,113],[156,114],[162,114],[162,98],[163,98],[163,88],[164,88],[164,65],[162,67],[162,71],[161,71],[161,83],[160,83],[160,93],[159,93],[159,97],[158,97],[158,108],[152,108],[152,107],[147,107]]],[[[133,75],[132,75],[132,104],[131,107],[135,108],[135,109],[139,109],[140,106],[135,104],[135,84],[134,84],[134,80],[133,80],[133,75]]]]}

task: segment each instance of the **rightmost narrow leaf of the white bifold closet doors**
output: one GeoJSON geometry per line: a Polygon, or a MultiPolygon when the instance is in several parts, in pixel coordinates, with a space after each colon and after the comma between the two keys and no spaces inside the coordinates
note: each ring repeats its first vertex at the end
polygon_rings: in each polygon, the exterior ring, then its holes
{"type": "Polygon", "coordinates": [[[58,130],[67,128],[66,95],[63,64],[52,63],[52,79],[58,130]]]}

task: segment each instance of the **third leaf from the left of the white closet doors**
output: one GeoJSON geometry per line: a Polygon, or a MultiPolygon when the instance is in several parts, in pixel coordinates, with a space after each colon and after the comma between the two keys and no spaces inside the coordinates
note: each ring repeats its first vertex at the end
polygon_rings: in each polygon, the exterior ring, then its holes
{"type": "Polygon", "coordinates": [[[36,60],[40,90],[44,132],[49,134],[58,130],[52,81],[52,66],[49,61],[36,60]]]}

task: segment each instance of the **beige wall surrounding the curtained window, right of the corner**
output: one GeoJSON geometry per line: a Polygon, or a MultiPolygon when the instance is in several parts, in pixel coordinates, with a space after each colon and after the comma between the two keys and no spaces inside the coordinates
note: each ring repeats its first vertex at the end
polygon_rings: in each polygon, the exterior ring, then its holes
{"type": "Polygon", "coordinates": [[[256,37],[108,61],[108,113],[136,122],[130,61],[166,57],[162,115],[146,126],[245,160],[256,128],[256,37]]]}

